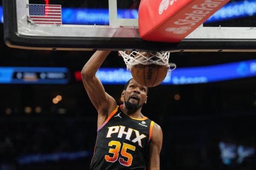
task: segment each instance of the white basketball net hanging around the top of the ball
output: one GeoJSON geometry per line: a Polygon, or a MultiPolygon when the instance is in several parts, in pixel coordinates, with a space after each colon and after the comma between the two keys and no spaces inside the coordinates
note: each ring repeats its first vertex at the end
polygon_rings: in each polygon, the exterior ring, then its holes
{"type": "Polygon", "coordinates": [[[137,52],[137,51],[119,51],[122,58],[125,61],[127,69],[131,70],[131,67],[137,64],[149,65],[157,64],[168,67],[169,72],[176,69],[175,63],[169,63],[170,52],[155,52],[151,53],[148,57],[148,52],[137,52]],[[128,54],[127,54],[128,53],[128,54]],[[172,68],[172,69],[171,69],[172,68]]]}

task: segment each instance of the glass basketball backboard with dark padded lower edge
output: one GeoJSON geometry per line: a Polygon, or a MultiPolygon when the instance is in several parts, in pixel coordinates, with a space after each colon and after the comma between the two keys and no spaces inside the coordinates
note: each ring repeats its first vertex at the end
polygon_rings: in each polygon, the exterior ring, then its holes
{"type": "Polygon", "coordinates": [[[253,17],[252,0],[231,0],[180,43],[142,40],[139,4],[140,0],[3,0],[5,42],[15,48],[49,50],[256,51],[256,24],[234,19],[253,17]],[[41,19],[40,8],[53,13],[45,11],[41,19]]]}

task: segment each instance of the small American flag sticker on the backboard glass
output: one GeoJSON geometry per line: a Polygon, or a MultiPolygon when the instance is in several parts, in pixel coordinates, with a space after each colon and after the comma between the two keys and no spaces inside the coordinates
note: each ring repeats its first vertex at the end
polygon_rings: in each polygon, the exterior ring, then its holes
{"type": "Polygon", "coordinates": [[[29,18],[36,24],[61,25],[61,5],[29,4],[29,18]]]}

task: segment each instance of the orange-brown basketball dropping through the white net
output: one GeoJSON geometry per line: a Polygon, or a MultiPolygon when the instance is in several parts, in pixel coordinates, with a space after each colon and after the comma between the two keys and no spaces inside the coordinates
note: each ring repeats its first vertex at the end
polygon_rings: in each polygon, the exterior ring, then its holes
{"type": "Polygon", "coordinates": [[[138,84],[154,87],[166,78],[167,70],[167,66],[137,64],[131,67],[131,75],[138,84]]]}

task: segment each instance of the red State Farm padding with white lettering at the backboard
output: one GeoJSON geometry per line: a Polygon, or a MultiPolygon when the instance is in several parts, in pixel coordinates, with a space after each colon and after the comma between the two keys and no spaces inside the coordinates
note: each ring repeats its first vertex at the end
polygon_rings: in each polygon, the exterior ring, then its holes
{"type": "Polygon", "coordinates": [[[141,0],[143,40],[180,42],[230,0],[141,0]]]}

